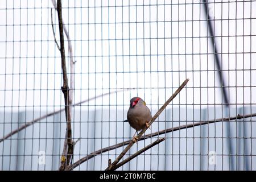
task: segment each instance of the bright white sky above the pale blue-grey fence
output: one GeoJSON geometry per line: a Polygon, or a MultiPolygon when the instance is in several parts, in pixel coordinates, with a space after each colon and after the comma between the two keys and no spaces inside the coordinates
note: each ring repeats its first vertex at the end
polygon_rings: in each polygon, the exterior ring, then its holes
{"type": "MultiPolygon", "coordinates": [[[[156,1],[139,0],[137,7],[136,1],[117,1],[117,7],[115,1],[102,1],[102,8],[101,1],[95,5],[89,1],[89,12],[87,2],[63,1],[63,19],[77,61],[75,102],[109,89],[138,88],[100,98],[96,105],[128,105],[130,97],[137,94],[148,105],[162,105],[185,78],[190,78],[187,90],[174,104],[221,104],[200,1],[179,1],[179,6],[178,1],[157,1],[156,6],[156,1]]],[[[215,2],[209,5],[210,15],[216,19],[214,32],[218,51],[223,53],[220,59],[230,86],[230,103],[255,104],[256,2],[215,2]]],[[[52,34],[51,7],[51,1],[0,1],[1,110],[3,106],[51,109],[63,105],[61,60],[52,34]]],[[[55,31],[58,35],[57,25],[55,31]]],[[[65,48],[68,55],[67,42],[65,48]]]]}

